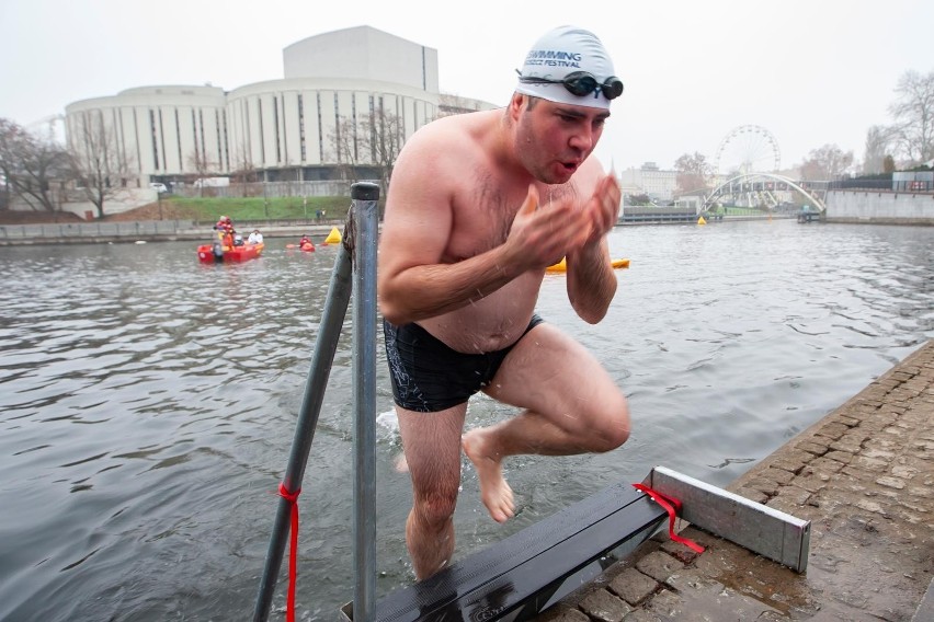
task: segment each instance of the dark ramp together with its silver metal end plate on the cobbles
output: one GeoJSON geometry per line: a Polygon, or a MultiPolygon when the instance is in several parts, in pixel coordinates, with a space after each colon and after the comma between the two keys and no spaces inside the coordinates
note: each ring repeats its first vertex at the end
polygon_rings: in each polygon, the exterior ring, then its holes
{"type": "MultiPolygon", "coordinates": [[[[682,502],[681,516],[797,572],[810,522],[657,466],[643,482],[682,502]]],[[[669,518],[630,484],[610,486],[413,586],[377,601],[376,622],[521,622],[633,553],[669,518]]],[[[341,608],[353,620],[353,603],[341,608]]],[[[362,622],[362,621],[361,621],[362,622]]]]}

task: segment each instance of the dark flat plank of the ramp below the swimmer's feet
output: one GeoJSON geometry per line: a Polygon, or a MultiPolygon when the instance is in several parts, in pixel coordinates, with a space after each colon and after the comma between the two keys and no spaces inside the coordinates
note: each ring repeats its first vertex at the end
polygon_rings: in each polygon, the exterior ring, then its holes
{"type": "MultiPolygon", "coordinates": [[[[635,551],[667,518],[629,484],[611,486],[386,596],[375,620],[525,620],[635,551]]],[[[350,603],[341,611],[353,619],[350,603]]]]}

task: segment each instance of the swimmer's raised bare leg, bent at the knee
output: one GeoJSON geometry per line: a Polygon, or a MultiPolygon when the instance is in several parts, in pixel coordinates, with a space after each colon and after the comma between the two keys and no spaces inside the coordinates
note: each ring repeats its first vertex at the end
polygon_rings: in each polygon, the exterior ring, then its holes
{"type": "Polygon", "coordinates": [[[548,324],[520,339],[486,392],[527,408],[464,435],[464,451],[480,480],[480,498],[499,522],[515,512],[512,488],[502,474],[505,457],[603,452],[629,437],[622,391],[583,346],[548,324]]]}

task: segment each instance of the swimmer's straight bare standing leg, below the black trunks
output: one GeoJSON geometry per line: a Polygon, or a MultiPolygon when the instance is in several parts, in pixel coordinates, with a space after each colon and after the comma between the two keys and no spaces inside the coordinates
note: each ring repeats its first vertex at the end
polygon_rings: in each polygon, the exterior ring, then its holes
{"type": "Polygon", "coordinates": [[[451,563],[454,508],[460,486],[460,434],[467,404],[437,413],[396,407],[412,476],[412,510],[406,543],[419,580],[451,563]]]}

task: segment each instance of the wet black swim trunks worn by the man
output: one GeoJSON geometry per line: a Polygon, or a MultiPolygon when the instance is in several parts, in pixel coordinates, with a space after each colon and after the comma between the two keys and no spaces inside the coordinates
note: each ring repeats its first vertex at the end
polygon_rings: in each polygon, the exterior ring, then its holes
{"type": "MultiPolygon", "coordinates": [[[[543,322],[533,314],[525,333],[543,322]]],[[[419,413],[436,413],[466,402],[490,383],[515,347],[512,344],[497,352],[464,354],[418,324],[396,326],[386,320],[383,334],[396,404],[419,413]]]]}

